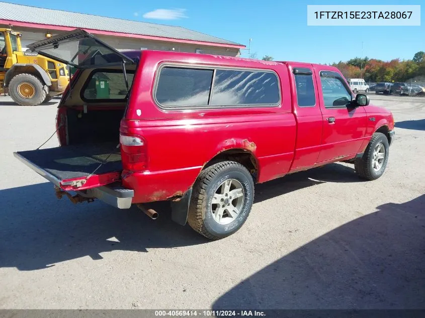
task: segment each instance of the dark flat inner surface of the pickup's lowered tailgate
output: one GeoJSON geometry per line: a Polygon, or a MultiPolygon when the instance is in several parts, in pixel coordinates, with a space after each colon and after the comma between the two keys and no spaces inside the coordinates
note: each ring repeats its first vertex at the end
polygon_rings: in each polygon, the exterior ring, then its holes
{"type": "Polygon", "coordinates": [[[79,144],[17,152],[26,160],[59,180],[85,177],[104,163],[96,174],[121,171],[121,153],[117,143],[79,144]],[[108,158],[109,156],[109,158],[108,158]],[[105,161],[107,160],[107,161],[105,161]]]}

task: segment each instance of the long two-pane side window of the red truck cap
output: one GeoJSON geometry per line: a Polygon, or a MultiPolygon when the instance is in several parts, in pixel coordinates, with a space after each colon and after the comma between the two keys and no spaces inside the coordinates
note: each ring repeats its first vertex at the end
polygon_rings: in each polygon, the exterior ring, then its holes
{"type": "Polygon", "coordinates": [[[153,95],[163,109],[274,107],[280,104],[273,71],[162,66],[153,95]]]}

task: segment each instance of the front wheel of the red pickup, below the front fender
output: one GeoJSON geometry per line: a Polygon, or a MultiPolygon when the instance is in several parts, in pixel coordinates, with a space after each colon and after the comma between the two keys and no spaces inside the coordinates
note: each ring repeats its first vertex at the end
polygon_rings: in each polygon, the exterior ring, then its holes
{"type": "Polygon", "coordinates": [[[354,168],[363,179],[376,180],[384,174],[388,163],[389,144],[382,133],[373,134],[362,158],[356,159],[354,168]]]}

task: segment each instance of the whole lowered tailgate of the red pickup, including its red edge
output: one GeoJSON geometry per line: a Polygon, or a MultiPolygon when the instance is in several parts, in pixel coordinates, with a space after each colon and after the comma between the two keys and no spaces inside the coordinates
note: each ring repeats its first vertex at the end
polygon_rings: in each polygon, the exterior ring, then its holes
{"type": "Polygon", "coordinates": [[[121,179],[121,153],[114,143],[18,151],[14,156],[65,191],[95,188],[121,179]]]}

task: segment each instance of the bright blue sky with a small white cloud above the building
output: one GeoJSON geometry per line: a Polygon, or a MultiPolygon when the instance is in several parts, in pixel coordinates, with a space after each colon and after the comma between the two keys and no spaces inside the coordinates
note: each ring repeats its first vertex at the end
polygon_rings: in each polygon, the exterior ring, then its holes
{"type": "MultiPolygon", "coordinates": [[[[8,0],[6,0],[8,1],[8,0]]],[[[34,1],[10,1],[34,5],[34,1]]],[[[308,5],[380,5],[382,2],[215,0],[215,1],[87,1],[38,0],[37,6],[101,16],[177,25],[248,46],[258,57],[275,60],[331,63],[362,55],[390,60],[411,59],[425,51],[423,0],[386,0],[386,5],[422,5],[421,26],[416,27],[312,27],[307,26],[308,5]],[[158,11],[163,9],[163,11],[158,11]],[[144,16],[144,17],[143,17],[144,16]],[[167,18],[167,19],[165,19],[167,18]],[[173,18],[173,19],[170,19],[173,18]],[[165,20],[164,20],[165,19],[165,20]]],[[[247,52],[242,51],[246,57],[247,52]]]]}

